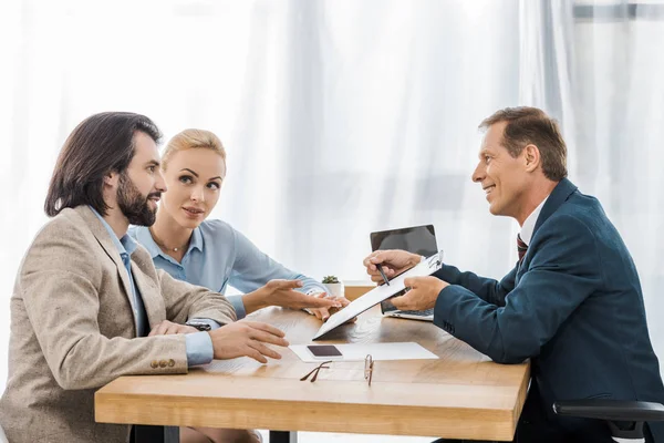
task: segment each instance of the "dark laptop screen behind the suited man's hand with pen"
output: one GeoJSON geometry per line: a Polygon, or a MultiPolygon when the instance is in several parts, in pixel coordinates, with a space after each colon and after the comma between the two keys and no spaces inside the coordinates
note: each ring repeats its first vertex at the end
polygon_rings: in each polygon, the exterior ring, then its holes
{"type": "Polygon", "coordinates": [[[429,257],[438,253],[434,225],[371,233],[371,250],[403,249],[429,257]]]}

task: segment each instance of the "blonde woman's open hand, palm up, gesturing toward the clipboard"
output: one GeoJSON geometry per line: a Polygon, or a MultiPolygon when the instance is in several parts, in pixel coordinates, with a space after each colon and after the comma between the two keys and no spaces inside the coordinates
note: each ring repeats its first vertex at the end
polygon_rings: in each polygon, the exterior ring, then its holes
{"type": "Polygon", "coordinates": [[[311,297],[293,290],[301,288],[300,280],[270,280],[266,286],[242,297],[245,310],[251,313],[268,306],[280,306],[290,309],[303,308],[341,308],[342,303],[332,298],[311,297]]]}

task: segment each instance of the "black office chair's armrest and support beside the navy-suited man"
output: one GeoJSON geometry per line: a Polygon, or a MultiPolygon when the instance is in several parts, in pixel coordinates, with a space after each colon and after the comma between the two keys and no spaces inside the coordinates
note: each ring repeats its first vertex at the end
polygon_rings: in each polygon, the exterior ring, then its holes
{"type": "Polygon", "coordinates": [[[640,401],[610,399],[570,400],[553,403],[553,412],[562,416],[606,421],[614,441],[645,442],[644,422],[664,421],[664,405],[640,401]]]}

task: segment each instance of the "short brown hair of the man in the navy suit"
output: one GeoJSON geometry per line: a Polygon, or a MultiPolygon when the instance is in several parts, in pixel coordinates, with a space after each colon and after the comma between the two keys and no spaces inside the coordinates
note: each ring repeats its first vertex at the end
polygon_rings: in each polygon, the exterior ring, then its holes
{"type": "Polygon", "coordinates": [[[507,122],[502,145],[512,157],[518,157],[523,147],[533,144],[540,152],[544,176],[553,182],[567,177],[567,145],[556,120],[537,107],[506,107],[485,119],[479,128],[487,130],[501,122],[507,122]]]}

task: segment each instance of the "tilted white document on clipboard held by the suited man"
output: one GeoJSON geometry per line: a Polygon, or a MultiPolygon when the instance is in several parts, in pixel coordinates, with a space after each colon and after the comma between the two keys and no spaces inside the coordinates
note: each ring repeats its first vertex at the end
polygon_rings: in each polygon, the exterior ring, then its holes
{"type": "Polygon", "coordinates": [[[417,266],[408,269],[407,271],[394,277],[390,280],[390,286],[381,285],[366,292],[364,296],[351,301],[349,306],[340,310],[339,312],[331,316],[328,321],[321,326],[312,340],[317,340],[330,332],[332,329],[345,323],[350,319],[357,317],[365,310],[376,306],[383,300],[388,299],[395,293],[405,289],[404,280],[408,277],[425,277],[430,276],[438,269],[440,269],[442,260],[440,253],[434,254],[433,256],[425,258],[417,266]]]}

